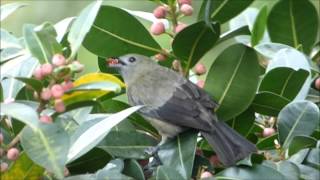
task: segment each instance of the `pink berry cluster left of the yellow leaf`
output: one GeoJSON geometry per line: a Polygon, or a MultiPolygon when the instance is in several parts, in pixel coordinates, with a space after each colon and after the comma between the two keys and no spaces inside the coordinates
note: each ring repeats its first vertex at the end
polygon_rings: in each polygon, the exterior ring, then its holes
{"type": "MultiPolygon", "coordinates": [[[[66,108],[61,98],[66,91],[73,88],[72,75],[81,72],[83,68],[84,66],[79,61],[67,62],[63,55],[54,55],[52,64],[42,64],[33,73],[35,79],[47,84],[40,94],[35,92],[34,97],[43,107],[53,102],[52,104],[56,112],[64,112],[66,108]]],[[[42,115],[40,116],[40,121],[51,123],[52,118],[48,115],[42,115]]]]}

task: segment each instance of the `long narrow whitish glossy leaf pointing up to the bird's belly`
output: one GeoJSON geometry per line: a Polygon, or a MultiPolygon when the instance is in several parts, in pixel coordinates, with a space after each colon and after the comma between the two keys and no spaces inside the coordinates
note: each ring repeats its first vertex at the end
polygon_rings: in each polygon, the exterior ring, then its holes
{"type": "MultiPolygon", "coordinates": [[[[72,136],[72,145],[68,154],[68,162],[75,160],[95,147],[110,130],[127,118],[129,115],[139,110],[142,106],[134,106],[124,111],[113,114],[90,127],[78,129],[72,136]]],[[[85,125],[85,124],[84,124],[85,125]]],[[[80,126],[81,127],[81,126],[80,126]]]]}

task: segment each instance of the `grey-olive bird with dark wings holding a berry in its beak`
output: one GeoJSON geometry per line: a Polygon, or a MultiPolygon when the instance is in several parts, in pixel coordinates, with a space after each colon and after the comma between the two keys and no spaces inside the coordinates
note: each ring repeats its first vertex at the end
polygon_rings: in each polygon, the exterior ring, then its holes
{"type": "Polygon", "coordinates": [[[129,104],[145,105],[139,113],[162,136],[160,144],[187,129],[196,129],[225,166],[257,149],[214,113],[218,104],[203,89],[149,57],[127,54],[108,60],[127,85],[129,104]]]}

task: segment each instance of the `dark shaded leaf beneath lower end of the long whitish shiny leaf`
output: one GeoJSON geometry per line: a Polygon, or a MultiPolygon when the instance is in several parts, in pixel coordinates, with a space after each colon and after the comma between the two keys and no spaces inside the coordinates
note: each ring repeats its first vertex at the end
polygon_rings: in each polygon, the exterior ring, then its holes
{"type": "Polygon", "coordinates": [[[94,173],[103,168],[111,159],[104,150],[93,148],[91,151],[67,165],[71,174],[94,173]]]}

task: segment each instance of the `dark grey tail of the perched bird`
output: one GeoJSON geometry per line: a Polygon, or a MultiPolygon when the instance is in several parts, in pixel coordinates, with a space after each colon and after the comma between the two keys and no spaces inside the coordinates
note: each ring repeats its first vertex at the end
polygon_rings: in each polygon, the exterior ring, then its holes
{"type": "Polygon", "coordinates": [[[234,165],[238,160],[256,152],[254,144],[242,137],[223,121],[213,122],[214,130],[201,132],[225,166],[234,165]]]}

